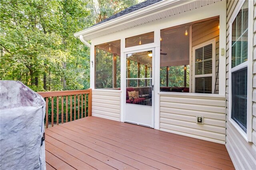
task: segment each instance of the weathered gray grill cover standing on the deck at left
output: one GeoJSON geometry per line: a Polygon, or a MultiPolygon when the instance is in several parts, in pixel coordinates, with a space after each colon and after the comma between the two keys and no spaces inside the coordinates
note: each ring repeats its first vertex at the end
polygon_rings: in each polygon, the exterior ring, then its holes
{"type": "Polygon", "coordinates": [[[45,170],[44,99],[19,81],[0,81],[0,169],[45,170]]]}

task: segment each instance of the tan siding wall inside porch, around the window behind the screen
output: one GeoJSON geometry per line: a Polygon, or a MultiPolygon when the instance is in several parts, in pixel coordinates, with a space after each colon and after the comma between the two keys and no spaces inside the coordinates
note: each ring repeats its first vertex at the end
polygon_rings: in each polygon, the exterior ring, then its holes
{"type": "MultiPolygon", "coordinates": [[[[218,28],[219,20],[216,19],[212,22],[206,22],[205,24],[198,24],[192,26],[192,47],[196,45],[200,45],[204,42],[207,42],[209,40],[215,39],[216,45],[215,45],[215,81],[216,81],[216,91],[215,94],[219,93],[219,74],[218,74],[218,62],[219,62],[219,33],[220,30],[218,28]]],[[[191,61],[192,62],[192,61],[191,61]]],[[[192,68],[192,66],[190,67],[192,68]]],[[[191,70],[192,73],[192,70],[191,70]]]]}

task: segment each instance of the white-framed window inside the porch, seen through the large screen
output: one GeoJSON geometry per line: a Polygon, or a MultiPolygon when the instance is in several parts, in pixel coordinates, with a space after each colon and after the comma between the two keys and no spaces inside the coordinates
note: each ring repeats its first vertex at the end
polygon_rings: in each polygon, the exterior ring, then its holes
{"type": "Polygon", "coordinates": [[[215,40],[193,47],[193,92],[214,93],[215,40]]]}

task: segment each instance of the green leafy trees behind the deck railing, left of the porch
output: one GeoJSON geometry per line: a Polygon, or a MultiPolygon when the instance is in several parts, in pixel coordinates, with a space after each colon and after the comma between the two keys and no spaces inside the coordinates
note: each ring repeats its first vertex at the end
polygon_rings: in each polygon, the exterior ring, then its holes
{"type": "Polygon", "coordinates": [[[0,80],[88,89],[90,49],[74,33],[143,0],[0,0],[0,80]]]}

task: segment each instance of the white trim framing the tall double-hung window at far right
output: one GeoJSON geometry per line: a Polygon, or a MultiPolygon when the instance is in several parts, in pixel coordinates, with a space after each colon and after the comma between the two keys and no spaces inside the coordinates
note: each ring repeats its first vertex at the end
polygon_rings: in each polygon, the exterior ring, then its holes
{"type": "Polygon", "coordinates": [[[253,1],[248,0],[248,61],[232,68],[232,23],[245,0],[238,2],[229,22],[229,66],[228,66],[228,121],[238,130],[247,142],[252,142],[252,53],[253,53],[253,1]],[[231,118],[232,111],[232,72],[247,66],[247,127],[246,132],[231,118]]]}

